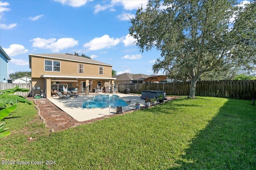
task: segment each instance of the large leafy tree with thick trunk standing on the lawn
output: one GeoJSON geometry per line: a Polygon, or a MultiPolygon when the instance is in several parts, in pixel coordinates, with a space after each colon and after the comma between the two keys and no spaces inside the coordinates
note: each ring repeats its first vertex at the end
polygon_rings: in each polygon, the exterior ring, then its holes
{"type": "Polygon", "coordinates": [[[140,50],[155,47],[161,57],[154,72],[191,82],[202,74],[233,66],[256,64],[256,2],[238,6],[235,0],[149,0],[131,18],[130,35],[140,50]]]}

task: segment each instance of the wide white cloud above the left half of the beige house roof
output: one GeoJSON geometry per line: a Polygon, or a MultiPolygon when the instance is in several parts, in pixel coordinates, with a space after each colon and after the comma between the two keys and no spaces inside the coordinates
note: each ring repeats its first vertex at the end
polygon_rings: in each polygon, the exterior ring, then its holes
{"type": "Polygon", "coordinates": [[[60,52],[63,49],[68,49],[78,45],[78,41],[73,38],[60,38],[56,41],[55,38],[44,39],[44,38],[34,38],[30,41],[34,41],[32,47],[38,47],[42,49],[50,49],[52,52],[60,52]]]}

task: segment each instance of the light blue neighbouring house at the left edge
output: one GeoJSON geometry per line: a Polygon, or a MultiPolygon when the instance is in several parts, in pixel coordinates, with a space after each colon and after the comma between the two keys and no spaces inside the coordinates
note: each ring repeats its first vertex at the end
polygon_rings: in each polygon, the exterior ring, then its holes
{"type": "Polygon", "coordinates": [[[4,49],[0,46],[0,82],[7,83],[8,77],[8,61],[10,61],[10,57],[6,54],[4,49]]]}

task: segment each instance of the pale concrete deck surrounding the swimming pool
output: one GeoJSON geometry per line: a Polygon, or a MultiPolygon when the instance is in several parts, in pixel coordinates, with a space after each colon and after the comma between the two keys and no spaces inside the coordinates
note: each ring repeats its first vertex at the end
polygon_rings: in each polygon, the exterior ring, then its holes
{"type": "Polygon", "coordinates": [[[136,102],[140,103],[140,107],[144,107],[145,100],[140,98],[140,94],[109,94],[109,93],[89,93],[89,95],[78,94],[80,97],[78,98],[70,98],[70,99],[58,99],[59,97],[48,98],[54,105],[68,113],[71,117],[76,119],[77,121],[87,121],[90,119],[96,119],[98,117],[103,117],[106,115],[116,114],[116,107],[107,108],[83,108],[82,105],[86,100],[90,100],[95,95],[118,95],[119,99],[130,99],[131,103],[128,106],[122,106],[122,111],[129,111],[135,109],[136,102]]]}

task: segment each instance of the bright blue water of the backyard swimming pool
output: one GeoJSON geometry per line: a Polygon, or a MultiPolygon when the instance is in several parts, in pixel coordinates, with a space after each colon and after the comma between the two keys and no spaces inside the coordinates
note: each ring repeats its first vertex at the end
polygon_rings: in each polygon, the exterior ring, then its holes
{"type": "Polygon", "coordinates": [[[122,99],[118,99],[117,95],[96,95],[92,99],[87,100],[83,103],[83,108],[94,108],[94,107],[116,107],[116,106],[128,106],[122,99]]]}

